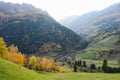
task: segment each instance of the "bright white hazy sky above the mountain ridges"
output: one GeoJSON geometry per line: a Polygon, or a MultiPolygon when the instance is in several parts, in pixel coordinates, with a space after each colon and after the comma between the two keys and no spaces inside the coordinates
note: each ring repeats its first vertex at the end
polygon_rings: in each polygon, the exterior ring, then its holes
{"type": "Polygon", "coordinates": [[[46,10],[57,21],[70,16],[102,10],[120,0],[0,0],[13,3],[29,3],[46,10]]]}

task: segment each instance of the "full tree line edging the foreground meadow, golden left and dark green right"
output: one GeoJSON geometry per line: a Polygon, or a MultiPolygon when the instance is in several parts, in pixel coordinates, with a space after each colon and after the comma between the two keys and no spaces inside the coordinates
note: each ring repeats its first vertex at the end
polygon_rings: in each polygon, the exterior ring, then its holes
{"type": "MultiPolygon", "coordinates": [[[[60,62],[53,59],[40,58],[36,56],[28,57],[27,55],[21,53],[18,47],[15,45],[10,45],[7,47],[3,38],[0,38],[0,58],[14,62],[20,66],[27,67],[36,71],[47,71],[47,72],[64,72],[64,67],[62,67],[60,62]]],[[[105,72],[105,73],[120,73],[120,67],[111,67],[108,65],[107,60],[103,61],[102,66],[96,66],[96,64],[87,64],[85,60],[75,60],[70,61],[65,59],[65,62],[69,65],[73,72],[105,72]]],[[[120,60],[119,60],[120,64],[120,60]]]]}

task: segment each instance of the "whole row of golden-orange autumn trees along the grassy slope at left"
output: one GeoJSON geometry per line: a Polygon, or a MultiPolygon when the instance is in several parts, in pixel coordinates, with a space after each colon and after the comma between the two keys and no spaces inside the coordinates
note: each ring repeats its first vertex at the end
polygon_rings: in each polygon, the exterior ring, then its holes
{"type": "Polygon", "coordinates": [[[64,68],[60,66],[59,62],[36,56],[28,57],[27,55],[21,53],[18,50],[18,47],[13,44],[7,47],[3,38],[0,38],[0,58],[37,71],[64,72],[64,68]]]}

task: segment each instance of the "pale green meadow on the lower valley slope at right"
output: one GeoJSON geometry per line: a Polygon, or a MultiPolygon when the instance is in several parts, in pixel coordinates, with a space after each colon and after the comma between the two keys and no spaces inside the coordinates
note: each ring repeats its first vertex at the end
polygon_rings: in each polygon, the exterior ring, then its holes
{"type": "MultiPolygon", "coordinates": [[[[118,36],[110,36],[108,38],[105,38],[103,40],[98,41],[97,43],[92,44],[89,46],[84,52],[78,52],[76,53],[77,58],[83,58],[83,59],[94,59],[96,54],[99,54],[99,52],[102,49],[118,49],[120,46],[115,45],[115,42],[118,40],[118,36]]],[[[115,53],[111,56],[109,54],[103,55],[100,59],[108,59],[108,60],[115,60],[119,59],[120,53],[115,53]]]]}

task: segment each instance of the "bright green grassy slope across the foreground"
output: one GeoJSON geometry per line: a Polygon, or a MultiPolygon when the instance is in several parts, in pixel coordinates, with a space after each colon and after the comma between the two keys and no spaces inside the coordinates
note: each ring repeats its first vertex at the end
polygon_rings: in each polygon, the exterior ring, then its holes
{"type": "Polygon", "coordinates": [[[105,73],[37,73],[0,59],[0,80],[120,80],[120,74],[105,73]]]}

